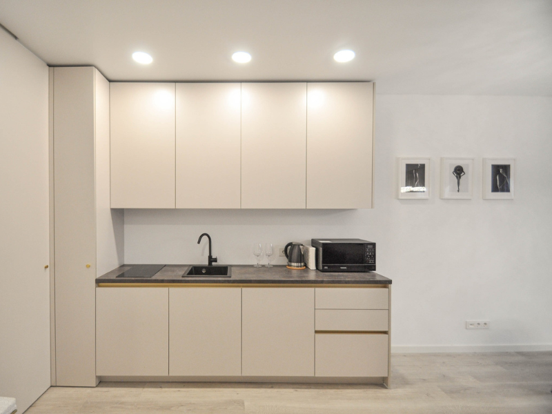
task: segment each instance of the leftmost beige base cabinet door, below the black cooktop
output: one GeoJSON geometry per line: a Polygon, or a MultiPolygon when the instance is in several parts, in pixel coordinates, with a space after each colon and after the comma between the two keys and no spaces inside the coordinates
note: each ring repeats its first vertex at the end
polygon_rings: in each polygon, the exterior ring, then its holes
{"type": "Polygon", "coordinates": [[[168,375],[168,288],[96,288],[96,375],[168,375]]]}

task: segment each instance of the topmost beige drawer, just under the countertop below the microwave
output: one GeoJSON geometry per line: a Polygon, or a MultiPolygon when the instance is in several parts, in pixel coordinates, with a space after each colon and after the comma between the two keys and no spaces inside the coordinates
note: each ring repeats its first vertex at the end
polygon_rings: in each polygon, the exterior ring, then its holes
{"type": "Polygon", "coordinates": [[[388,309],[386,288],[315,288],[317,309],[388,309]]]}

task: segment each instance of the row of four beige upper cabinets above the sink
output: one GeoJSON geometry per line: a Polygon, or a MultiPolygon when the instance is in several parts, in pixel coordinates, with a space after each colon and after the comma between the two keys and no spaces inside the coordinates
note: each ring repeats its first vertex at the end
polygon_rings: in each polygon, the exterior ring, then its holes
{"type": "Polygon", "coordinates": [[[372,208],[373,83],[111,83],[112,208],[372,208]]]}

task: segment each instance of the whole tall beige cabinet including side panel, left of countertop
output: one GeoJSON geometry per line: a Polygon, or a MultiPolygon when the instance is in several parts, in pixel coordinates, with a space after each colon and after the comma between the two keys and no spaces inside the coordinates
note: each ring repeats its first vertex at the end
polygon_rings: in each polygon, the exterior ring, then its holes
{"type": "Polygon", "coordinates": [[[88,67],[50,72],[55,359],[52,384],[95,386],[95,279],[123,262],[109,203],[109,83],[88,67]]]}

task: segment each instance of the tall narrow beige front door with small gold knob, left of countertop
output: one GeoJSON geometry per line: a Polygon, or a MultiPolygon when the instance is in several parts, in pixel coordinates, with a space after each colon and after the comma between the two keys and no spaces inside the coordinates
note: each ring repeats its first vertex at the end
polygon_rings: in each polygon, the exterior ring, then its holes
{"type": "Polygon", "coordinates": [[[53,77],[56,384],[96,386],[95,69],[53,77]]]}

